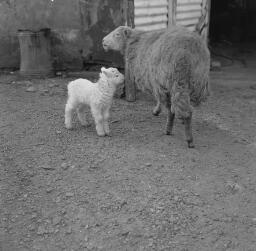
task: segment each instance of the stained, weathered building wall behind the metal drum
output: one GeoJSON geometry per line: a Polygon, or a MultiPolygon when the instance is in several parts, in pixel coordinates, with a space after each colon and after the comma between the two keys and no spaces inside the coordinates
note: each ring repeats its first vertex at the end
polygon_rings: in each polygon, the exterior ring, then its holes
{"type": "Polygon", "coordinates": [[[51,28],[57,68],[81,69],[84,63],[122,64],[118,53],[106,53],[102,38],[125,23],[123,1],[0,0],[0,68],[18,68],[17,31],[51,28]]]}

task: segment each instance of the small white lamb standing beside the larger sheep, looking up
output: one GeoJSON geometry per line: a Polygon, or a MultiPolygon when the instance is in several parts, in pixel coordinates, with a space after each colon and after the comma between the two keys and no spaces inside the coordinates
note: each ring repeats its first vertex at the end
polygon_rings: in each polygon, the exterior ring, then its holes
{"type": "Polygon", "coordinates": [[[116,87],[123,83],[124,75],[116,68],[101,68],[96,83],[87,79],[77,79],[68,84],[68,100],[65,107],[65,125],[72,128],[72,114],[76,110],[78,119],[87,126],[85,106],[90,106],[99,136],[109,135],[109,111],[116,87]]]}

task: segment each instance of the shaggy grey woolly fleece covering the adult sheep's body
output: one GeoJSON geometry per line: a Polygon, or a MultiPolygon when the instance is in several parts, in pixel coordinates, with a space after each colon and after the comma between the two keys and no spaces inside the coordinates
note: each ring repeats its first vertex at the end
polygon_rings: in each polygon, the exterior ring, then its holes
{"type": "Polygon", "coordinates": [[[209,94],[209,50],[198,34],[186,28],[134,31],[127,40],[125,55],[131,79],[139,89],[153,94],[170,91],[177,79],[175,67],[185,57],[187,65],[178,77],[188,78],[191,101],[199,104],[209,94]]]}

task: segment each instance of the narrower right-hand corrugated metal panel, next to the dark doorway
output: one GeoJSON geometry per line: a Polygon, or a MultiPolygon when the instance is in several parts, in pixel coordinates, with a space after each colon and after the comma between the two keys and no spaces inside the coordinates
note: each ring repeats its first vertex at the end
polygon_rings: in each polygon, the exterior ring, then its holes
{"type": "Polygon", "coordinates": [[[202,0],[177,0],[176,23],[190,30],[195,27],[202,15],[202,0]]]}

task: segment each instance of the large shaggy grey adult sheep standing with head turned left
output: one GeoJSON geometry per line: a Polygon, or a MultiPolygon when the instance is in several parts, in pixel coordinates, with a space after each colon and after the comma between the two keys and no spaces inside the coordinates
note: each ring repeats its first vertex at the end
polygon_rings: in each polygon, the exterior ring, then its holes
{"type": "Polygon", "coordinates": [[[154,115],[165,101],[167,135],[172,134],[175,116],[184,121],[188,147],[193,148],[191,105],[209,96],[210,53],[205,41],[178,26],[151,32],[120,26],[103,38],[102,45],[124,55],[126,80],[154,95],[154,115]]]}

